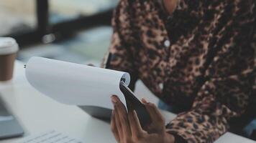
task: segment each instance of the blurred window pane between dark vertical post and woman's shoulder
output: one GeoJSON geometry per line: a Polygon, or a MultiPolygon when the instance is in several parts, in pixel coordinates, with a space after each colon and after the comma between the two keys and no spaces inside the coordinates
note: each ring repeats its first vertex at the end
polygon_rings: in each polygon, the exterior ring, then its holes
{"type": "Polygon", "coordinates": [[[79,19],[113,9],[118,0],[50,0],[50,23],[79,19]]]}

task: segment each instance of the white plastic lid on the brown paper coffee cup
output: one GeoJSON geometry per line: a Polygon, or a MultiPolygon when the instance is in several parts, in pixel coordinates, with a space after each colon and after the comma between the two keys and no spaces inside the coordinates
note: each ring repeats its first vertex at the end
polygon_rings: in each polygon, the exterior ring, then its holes
{"type": "Polygon", "coordinates": [[[11,37],[0,37],[0,55],[14,54],[19,51],[19,45],[11,37]]]}

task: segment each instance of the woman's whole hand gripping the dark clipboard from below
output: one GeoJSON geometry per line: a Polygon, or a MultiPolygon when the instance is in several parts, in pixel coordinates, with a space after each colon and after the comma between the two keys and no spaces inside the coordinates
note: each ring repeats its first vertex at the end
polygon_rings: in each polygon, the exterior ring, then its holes
{"type": "Polygon", "coordinates": [[[112,96],[114,110],[111,117],[111,130],[119,143],[173,143],[174,137],[165,132],[165,119],[155,104],[142,99],[150,114],[152,123],[143,130],[137,113],[127,114],[127,109],[118,97],[112,96]]]}

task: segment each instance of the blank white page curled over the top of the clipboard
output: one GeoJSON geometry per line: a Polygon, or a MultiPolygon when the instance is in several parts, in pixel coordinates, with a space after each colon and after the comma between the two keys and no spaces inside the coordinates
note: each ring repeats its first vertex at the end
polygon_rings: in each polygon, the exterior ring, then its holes
{"type": "Polygon", "coordinates": [[[111,95],[126,105],[119,82],[129,74],[42,57],[32,57],[26,64],[28,82],[42,94],[64,104],[98,106],[112,109],[111,95]]]}

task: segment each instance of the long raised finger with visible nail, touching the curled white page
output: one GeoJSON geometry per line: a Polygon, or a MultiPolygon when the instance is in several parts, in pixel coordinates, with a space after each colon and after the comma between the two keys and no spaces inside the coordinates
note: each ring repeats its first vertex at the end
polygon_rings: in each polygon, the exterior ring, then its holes
{"type": "Polygon", "coordinates": [[[122,102],[119,100],[118,97],[112,96],[111,98],[114,100],[115,110],[116,110],[116,113],[118,114],[118,119],[121,124],[124,137],[131,137],[132,133],[129,127],[127,109],[124,107],[124,104],[122,104],[122,102]]]}

